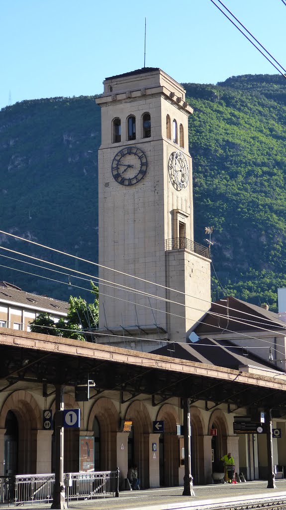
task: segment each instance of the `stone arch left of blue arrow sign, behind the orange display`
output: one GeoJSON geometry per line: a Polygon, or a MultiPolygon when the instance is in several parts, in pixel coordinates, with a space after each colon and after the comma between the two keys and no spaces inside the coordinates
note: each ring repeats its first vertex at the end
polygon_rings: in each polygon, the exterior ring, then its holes
{"type": "Polygon", "coordinates": [[[152,432],[151,418],[146,405],[140,400],[132,402],[126,412],[126,420],[132,420],[134,431],[134,459],[139,468],[140,484],[149,488],[149,435],[152,432]]]}

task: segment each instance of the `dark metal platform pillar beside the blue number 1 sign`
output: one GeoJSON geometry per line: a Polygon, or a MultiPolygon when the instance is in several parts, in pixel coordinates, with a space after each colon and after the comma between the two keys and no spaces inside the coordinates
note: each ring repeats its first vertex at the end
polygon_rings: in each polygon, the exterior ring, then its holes
{"type": "Polygon", "coordinates": [[[53,499],[51,508],[61,510],[67,508],[65,503],[64,487],[64,427],[63,413],[64,395],[63,386],[55,385],[55,476],[53,499]]]}

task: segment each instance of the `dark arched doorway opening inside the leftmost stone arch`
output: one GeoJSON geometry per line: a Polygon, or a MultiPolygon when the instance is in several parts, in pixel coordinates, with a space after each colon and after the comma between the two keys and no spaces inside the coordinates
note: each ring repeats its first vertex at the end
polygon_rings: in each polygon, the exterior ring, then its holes
{"type": "Polygon", "coordinates": [[[18,473],[18,420],[13,411],[8,411],[5,420],[4,435],[4,474],[13,476],[18,473]]]}

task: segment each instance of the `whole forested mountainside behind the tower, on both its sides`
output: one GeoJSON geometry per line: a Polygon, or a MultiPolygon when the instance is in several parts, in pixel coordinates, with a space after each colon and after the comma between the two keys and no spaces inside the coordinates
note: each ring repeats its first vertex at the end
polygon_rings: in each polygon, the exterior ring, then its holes
{"type": "MultiPolygon", "coordinates": [[[[184,86],[194,108],[189,149],[195,240],[206,244],[204,227],[214,226],[212,259],[224,287],[214,274],[213,298],[227,292],[275,309],[277,287],[286,287],[286,81],[279,75],[247,75],[216,86],[184,86]]],[[[0,230],[96,262],[99,144],[95,97],[23,101],[1,110],[0,230]]],[[[95,266],[12,238],[0,236],[0,241],[15,251],[97,274],[95,266]]],[[[68,269],[48,273],[3,255],[21,259],[0,249],[0,279],[61,299],[84,295],[69,288],[68,269]]],[[[72,284],[89,287],[74,277],[72,284]]]]}

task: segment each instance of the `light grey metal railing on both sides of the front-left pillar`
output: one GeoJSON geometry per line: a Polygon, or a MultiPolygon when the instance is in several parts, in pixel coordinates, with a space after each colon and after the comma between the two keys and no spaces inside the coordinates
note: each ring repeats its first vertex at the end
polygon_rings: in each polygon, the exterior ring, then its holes
{"type": "MultiPolygon", "coordinates": [[[[64,475],[66,498],[93,499],[100,496],[118,496],[119,470],[90,473],[66,473],[64,475]]],[[[53,499],[54,474],[16,475],[15,506],[19,503],[51,502],[53,499]]]]}

